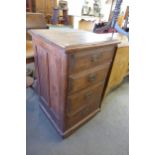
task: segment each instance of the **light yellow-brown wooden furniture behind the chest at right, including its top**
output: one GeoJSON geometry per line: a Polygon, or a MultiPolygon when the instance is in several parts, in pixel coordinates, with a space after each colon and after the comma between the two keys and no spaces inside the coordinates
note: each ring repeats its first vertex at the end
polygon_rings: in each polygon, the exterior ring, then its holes
{"type": "Polygon", "coordinates": [[[128,38],[121,34],[116,34],[115,37],[120,40],[120,44],[117,45],[116,56],[114,58],[105,95],[107,95],[114,88],[117,88],[129,73],[128,38]]]}

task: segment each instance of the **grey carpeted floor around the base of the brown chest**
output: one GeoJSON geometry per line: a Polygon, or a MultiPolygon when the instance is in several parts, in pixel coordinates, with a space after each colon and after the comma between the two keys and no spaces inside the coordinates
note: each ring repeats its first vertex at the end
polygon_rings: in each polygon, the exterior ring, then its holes
{"type": "Polygon", "coordinates": [[[128,89],[127,80],[104,99],[101,112],[63,140],[27,88],[27,155],[128,155],[128,89]]]}

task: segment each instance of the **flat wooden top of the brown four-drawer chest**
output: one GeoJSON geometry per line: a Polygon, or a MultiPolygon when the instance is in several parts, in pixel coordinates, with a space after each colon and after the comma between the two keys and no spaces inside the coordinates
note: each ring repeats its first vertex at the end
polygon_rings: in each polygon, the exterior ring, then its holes
{"type": "Polygon", "coordinates": [[[111,38],[112,35],[98,35],[93,32],[74,29],[50,29],[50,30],[30,30],[31,35],[37,35],[49,43],[54,43],[62,48],[70,49],[78,46],[89,46],[95,44],[117,44],[117,38],[111,38]]]}

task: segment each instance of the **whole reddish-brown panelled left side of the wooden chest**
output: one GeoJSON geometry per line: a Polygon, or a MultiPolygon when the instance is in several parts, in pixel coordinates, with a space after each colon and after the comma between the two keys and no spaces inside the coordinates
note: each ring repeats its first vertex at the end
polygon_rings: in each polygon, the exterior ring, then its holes
{"type": "Polygon", "coordinates": [[[65,130],[67,56],[63,49],[35,38],[36,71],[43,105],[56,126],[65,130]]]}

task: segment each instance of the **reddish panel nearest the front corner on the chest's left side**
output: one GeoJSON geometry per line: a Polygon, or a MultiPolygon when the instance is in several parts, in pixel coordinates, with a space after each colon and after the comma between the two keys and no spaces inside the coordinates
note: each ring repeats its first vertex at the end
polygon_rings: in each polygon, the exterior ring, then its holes
{"type": "MultiPolygon", "coordinates": [[[[61,57],[61,52],[51,47],[49,51],[49,79],[50,79],[50,99],[51,109],[56,114],[60,113],[60,103],[64,102],[64,82],[62,77],[65,77],[64,69],[65,63],[64,57],[61,57]],[[63,66],[64,65],[64,66],[63,66]]],[[[57,116],[58,118],[58,116],[57,116]]]]}

